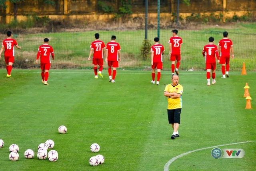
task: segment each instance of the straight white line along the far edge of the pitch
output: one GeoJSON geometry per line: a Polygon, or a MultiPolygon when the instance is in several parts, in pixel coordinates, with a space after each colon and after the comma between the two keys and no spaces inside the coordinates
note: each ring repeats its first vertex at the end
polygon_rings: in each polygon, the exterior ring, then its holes
{"type": "MultiPolygon", "coordinates": [[[[0,73],[6,73],[4,71],[1,71],[0,73]]],[[[18,72],[18,73],[33,73],[33,74],[38,74],[38,73],[41,73],[41,72],[18,72]]],[[[94,74],[94,72],[50,72],[52,74],[94,74]]],[[[118,74],[151,74],[150,72],[118,72],[118,74]]],[[[161,73],[161,74],[164,74],[164,75],[171,75],[171,72],[170,73],[161,73]]],[[[184,73],[180,73],[180,75],[186,75],[186,74],[196,74],[196,75],[204,75],[205,73],[192,73],[192,72],[184,72],[184,73]]],[[[217,75],[222,75],[222,73],[216,73],[217,75]]],[[[229,75],[241,75],[241,74],[238,74],[238,73],[234,73],[234,74],[229,74],[229,75]]],[[[247,75],[256,75],[256,73],[250,73],[250,74],[247,74],[247,75]]]]}

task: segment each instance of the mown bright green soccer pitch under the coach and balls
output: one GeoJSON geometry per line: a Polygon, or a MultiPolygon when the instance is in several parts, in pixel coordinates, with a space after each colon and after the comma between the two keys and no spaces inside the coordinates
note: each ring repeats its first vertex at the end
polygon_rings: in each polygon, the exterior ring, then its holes
{"type": "MultiPolygon", "coordinates": [[[[61,171],[161,171],[166,163],[188,151],[223,145],[241,148],[241,159],[214,159],[211,150],[184,155],[169,170],[255,170],[256,168],[256,73],[231,72],[206,86],[206,72],[180,72],[184,87],[180,137],[172,140],[164,88],[170,72],[162,72],[160,85],[150,83],[151,72],[117,71],[116,83],[94,79],[92,70],[50,70],[49,85],[40,70],[13,70],[6,78],[0,70],[0,170],[61,171]],[[244,109],[244,85],[248,82],[252,108],[244,109]],[[58,127],[65,125],[66,134],[58,127]],[[55,142],[59,159],[25,159],[24,151],[37,152],[47,139],[55,142]],[[254,141],[234,145],[244,141],[254,141]],[[8,159],[11,144],[20,147],[20,159],[8,159]],[[90,145],[100,151],[92,153],[90,145]],[[105,162],[97,167],[89,159],[97,154],[105,162]]],[[[49,151],[49,150],[48,150],[49,151]]],[[[168,170],[168,169],[166,169],[168,170]]]]}

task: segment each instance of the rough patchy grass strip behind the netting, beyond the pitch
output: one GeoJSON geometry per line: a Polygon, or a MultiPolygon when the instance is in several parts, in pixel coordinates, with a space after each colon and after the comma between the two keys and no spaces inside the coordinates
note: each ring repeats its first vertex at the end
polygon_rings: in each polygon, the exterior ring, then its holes
{"type": "MultiPolygon", "coordinates": [[[[248,71],[256,71],[256,30],[255,24],[236,24],[233,27],[208,28],[203,30],[180,30],[178,35],[182,37],[183,44],[181,48],[181,69],[204,70],[205,59],[202,56],[202,48],[208,44],[208,38],[213,36],[215,44],[222,39],[223,31],[228,31],[230,38],[234,43],[234,60],[230,60],[230,70],[240,71],[242,63],[246,63],[248,71]]],[[[40,34],[19,34],[16,39],[22,46],[22,50],[16,50],[17,60],[30,59],[30,67],[34,66],[38,47],[42,44],[45,37],[50,38],[50,45],[53,46],[56,54],[56,60],[52,63],[54,68],[92,68],[92,64],[87,60],[90,44],[94,41],[94,34],[100,33],[100,38],[105,42],[110,41],[112,35],[116,35],[117,42],[120,43],[122,62],[120,68],[124,69],[147,69],[150,67],[150,59],[142,61],[140,56],[140,47],[144,39],[144,30],[110,30],[110,31],[87,31],[87,32],[59,32],[59,33],[40,33],[40,34]]],[[[154,40],[157,36],[157,30],[148,31],[148,39],[154,40]]],[[[4,35],[0,36],[4,39],[4,35]]],[[[170,30],[160,30],[160,43],[164,45],[166,54],[163,56],[163,67],[170,70],[169,44],[171,37],[170,30]]],[[[2,62],[2,65],[4,63],[2,62]]],[[[27,65],[26,63],[24,65],[27,65]]],[[[16,63],[17,67],[20,67],[16,63]]],[[[217,70],[220,70],[218,65],[217,70]]]]}

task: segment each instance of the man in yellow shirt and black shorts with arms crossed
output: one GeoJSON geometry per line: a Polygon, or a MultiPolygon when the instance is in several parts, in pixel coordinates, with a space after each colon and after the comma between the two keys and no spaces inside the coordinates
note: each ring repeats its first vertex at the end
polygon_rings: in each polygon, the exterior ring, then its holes
{"type": "Polygon", "coordinates": [[[183,87],[179,84],[179,76],[172,75],[172,84],[166,85],[164,96],[168,98],[168,120],[172,124],[173,133],[171,139],[179,137],[178,128],[180,124],[180,113],[182,108],[182,93],[183,87]]]}

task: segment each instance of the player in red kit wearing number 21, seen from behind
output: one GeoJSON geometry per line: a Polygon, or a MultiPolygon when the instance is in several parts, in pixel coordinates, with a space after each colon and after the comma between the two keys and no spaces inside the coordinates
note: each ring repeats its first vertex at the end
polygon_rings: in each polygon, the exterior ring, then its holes
{"type": "Polygon", "coordinates": [[[103,78],[103,75],[102,75],[102,70],[103,70],[103,57],[104,57],[104,54],[105,54],[105,44],[104,42],[102,42],[99,38],[100,38],[100,34],[96,33],[94,34],[95,36],[95,41],[92,42],[90,48],[91,48],[91,51],[90,51],[90,55],[89,55],[89,58],[88,60],[90,61],[91,60],[91,55],[92,55],[92,51],[93,51],[93,56],[92,56],[92,64],[94,64],[94,74],[95,74],[95,78],[98,78],[98,75],[97,75],[97,71],[98,71],[98,68],[97,68],[97,65],[100,66],[99,68],[99,76],[100,78],[103,78]]]}

